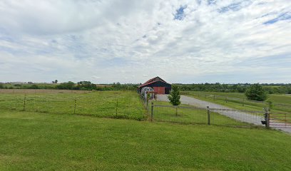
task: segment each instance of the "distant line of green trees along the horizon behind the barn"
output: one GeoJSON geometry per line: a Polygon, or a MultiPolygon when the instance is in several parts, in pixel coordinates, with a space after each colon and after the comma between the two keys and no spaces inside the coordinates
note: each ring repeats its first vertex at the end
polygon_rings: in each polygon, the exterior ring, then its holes
{"type": "MultiPolygon", "coordinates": [[[[61,89],[61,90],[137,90],[139,84],[128,83],[111,83],[96,85],[90,81],[79,81],[73,83],[68,81],[66,83],[0,83],[0,88],[5,89],[61,89]]],[[[225,93],[245,93],[250,83],[238,83],[238,84],[221,84],[221,83],[197,83],[197,84],[173,84],[178,86],[182,91],[208,91],[208,92],[225,92],[225,93]]],[[[268,94],[273,93],[285,93],[291,94],[291,84],[260,84],[263,90],[268,94]]]]}

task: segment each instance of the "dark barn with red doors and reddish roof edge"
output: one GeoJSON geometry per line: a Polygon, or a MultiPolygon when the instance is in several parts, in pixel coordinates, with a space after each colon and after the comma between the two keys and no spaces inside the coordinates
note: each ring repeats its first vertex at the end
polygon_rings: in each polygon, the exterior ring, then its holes
{"type": "Polygon", "coordinates": [[[160,77],[151,78],[150,80],[146,81],[146,83],[138,86],[139,92],[141,92],[141,89],[144,87],[153,88],[157,94],[169,94],[171,89],[171,85],[160,77]]]}

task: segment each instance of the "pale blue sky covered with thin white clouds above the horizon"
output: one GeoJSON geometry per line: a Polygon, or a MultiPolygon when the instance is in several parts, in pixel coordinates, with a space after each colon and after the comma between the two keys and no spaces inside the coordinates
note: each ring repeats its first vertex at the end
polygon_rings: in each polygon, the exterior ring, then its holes
{"type": "Polygon", "coordinates": [[[290,0],[0,0],[0,82],[290,83],[290,0]]]}

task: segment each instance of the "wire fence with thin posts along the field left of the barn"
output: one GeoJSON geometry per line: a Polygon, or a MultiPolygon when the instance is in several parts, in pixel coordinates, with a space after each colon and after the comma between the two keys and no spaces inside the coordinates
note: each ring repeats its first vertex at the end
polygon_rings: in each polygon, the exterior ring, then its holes
{"type": "MultiPolygon", "coordinates": [[[[22,95],[21,95],[22,96],[22,95]]],[[[10,96],[0,98],[0,110],[18,110],[38,113],[92,115],[108,118],[145,120],[146,110],[136,103],[127,103],[118,98],[109,101],[96,98],[53,98],[55,96],[10,96]]]]}

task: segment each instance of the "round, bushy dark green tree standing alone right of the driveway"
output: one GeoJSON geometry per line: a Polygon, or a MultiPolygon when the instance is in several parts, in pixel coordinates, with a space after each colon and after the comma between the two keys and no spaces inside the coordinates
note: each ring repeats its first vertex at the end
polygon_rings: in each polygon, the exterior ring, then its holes
{"type": "Polygon", "coordinates": [[[247,88],[245,96],[247,96],[247,99],[249,100],[264,101],[267,99],[267,93],[258,83],[247,88]]]}

